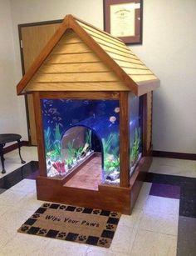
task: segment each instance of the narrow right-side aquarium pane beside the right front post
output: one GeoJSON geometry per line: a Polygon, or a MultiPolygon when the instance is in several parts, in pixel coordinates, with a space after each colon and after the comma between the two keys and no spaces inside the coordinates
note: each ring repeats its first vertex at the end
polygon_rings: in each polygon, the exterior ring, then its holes
{"type": "Polygon", "coordinates": [[[142,154],[140,98],[130,93],[130,176],[134,173],[142,154]]]}

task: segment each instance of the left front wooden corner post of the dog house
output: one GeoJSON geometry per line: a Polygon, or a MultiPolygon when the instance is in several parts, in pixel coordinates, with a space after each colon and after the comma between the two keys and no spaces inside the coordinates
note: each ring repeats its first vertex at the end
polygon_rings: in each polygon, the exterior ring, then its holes
{"type": "Polygon", "coordinates": [[[47,165],[45,157],[45,146],[44,146],[44,133],[42,126],[42,106],[40,103],[40,93],[33,93],[33,105],[36,120],[36,131],[37,131],[37,150],[39,159],[40,176],[47,177],[47,165]]]}

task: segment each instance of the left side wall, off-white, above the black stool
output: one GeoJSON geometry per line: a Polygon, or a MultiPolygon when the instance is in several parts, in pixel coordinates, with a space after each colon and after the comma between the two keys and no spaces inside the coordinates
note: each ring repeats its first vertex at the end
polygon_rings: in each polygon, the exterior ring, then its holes
{"type": "Polygon", "coordinates": [[[20,132],[14,57],[10,3],[0,0],[0,133],[20,132]]]}

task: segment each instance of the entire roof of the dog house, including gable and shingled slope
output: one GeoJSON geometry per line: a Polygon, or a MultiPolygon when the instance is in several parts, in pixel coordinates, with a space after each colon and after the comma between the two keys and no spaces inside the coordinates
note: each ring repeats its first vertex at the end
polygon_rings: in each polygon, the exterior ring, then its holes
{"type": "Polygon", "coordinates": [[[17,84],[17,94],[122,90],[140,96],[157,87],[159,79],[119,38],[69,14],[17,84]]]}

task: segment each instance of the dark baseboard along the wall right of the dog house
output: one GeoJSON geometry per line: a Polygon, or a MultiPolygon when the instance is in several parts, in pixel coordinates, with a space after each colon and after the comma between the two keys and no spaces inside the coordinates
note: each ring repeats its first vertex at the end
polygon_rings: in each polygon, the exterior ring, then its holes
{"type": "Polygon", "coordinates": [[[196,160],[196,153],[179,153],[153,150],[153,157],[196,160]]]}

